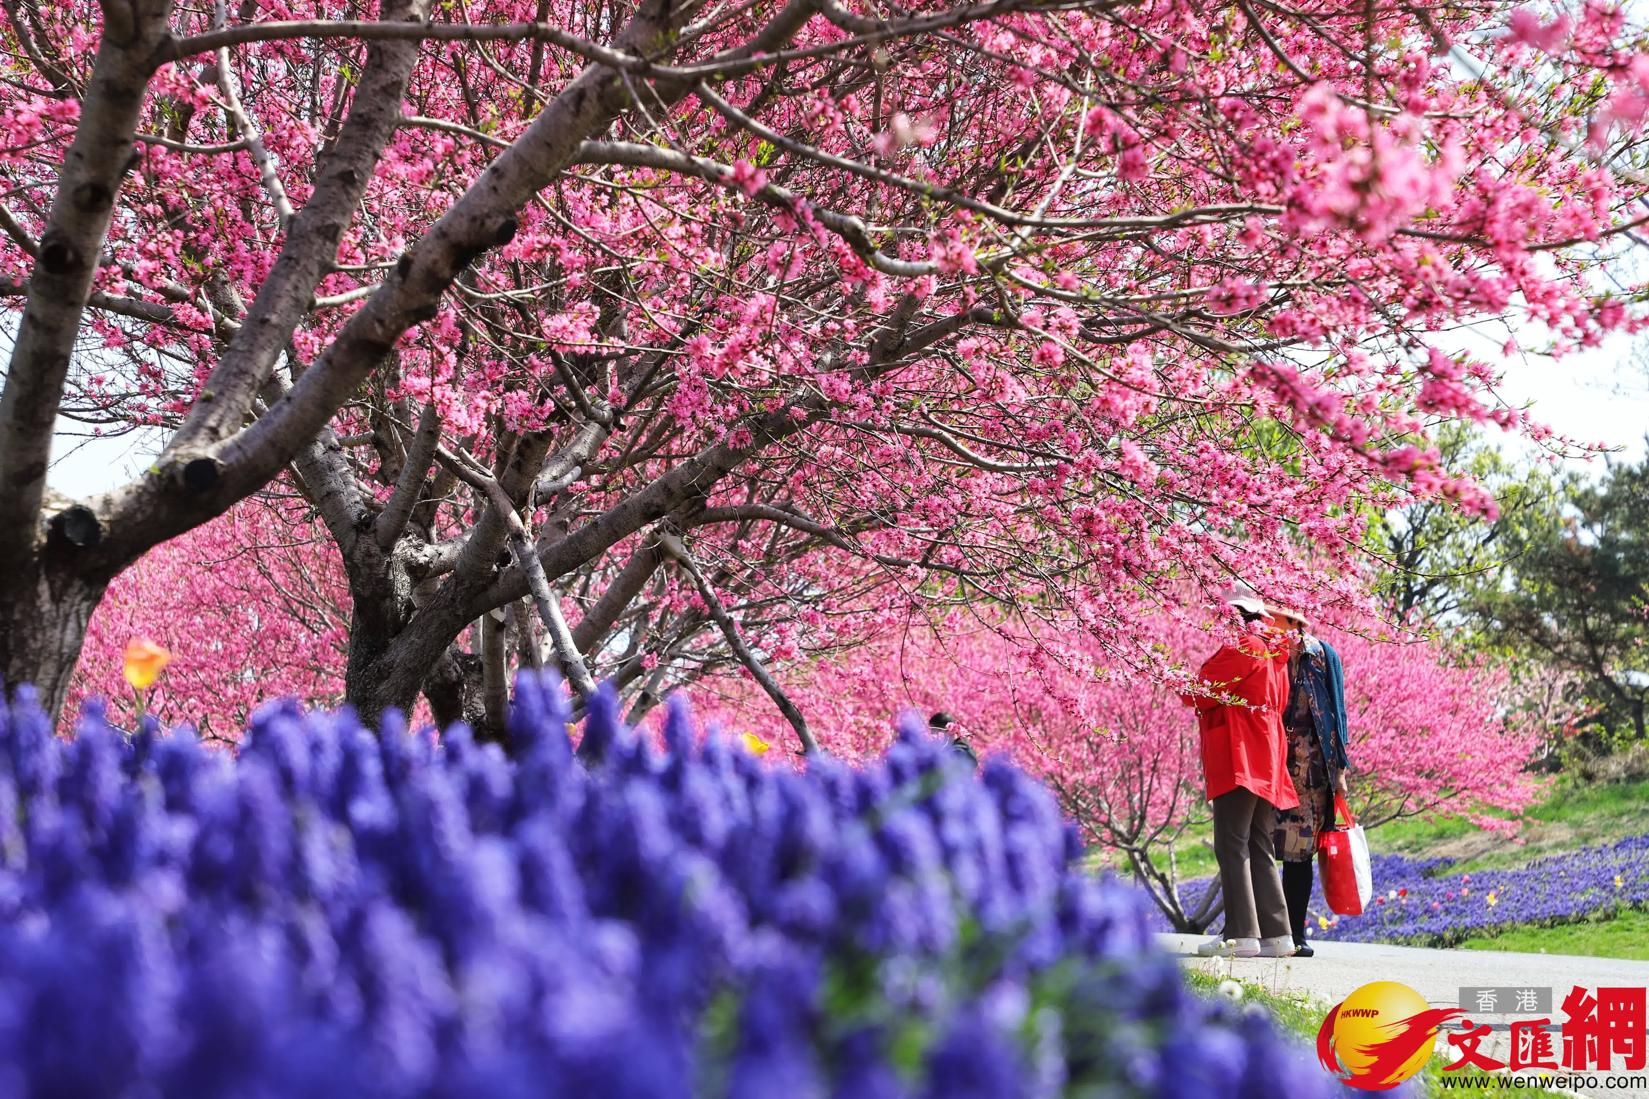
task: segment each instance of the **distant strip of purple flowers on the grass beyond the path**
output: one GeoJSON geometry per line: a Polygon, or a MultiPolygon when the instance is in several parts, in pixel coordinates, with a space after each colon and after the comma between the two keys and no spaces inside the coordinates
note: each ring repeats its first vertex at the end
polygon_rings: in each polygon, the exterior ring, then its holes
{"type": "MultiPolygon", "coordinates": [[[[1453,858],[1374,855],[1375,900],[1362,916],[1336,916],[1311,891],[1308,934],[1337,942],[1456,946],[1515,926],[1552,928],[1611,910],[1649,906],[1649,835],[1537,858],[1519,870],[1454,872],[1453,858]]],[[[1187,882],[1200,896],[1209,878],[1187,882]]],[[[1158,913],[1158,929],[1167,921],[1158,913]]]]}

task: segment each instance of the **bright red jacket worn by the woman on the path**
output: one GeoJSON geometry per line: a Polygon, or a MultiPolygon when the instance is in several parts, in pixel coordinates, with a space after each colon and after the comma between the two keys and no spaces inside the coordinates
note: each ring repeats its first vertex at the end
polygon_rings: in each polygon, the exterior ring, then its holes
{"type": "Polygon", "coordinates": [[[1197,679],[1247,704],[1227,705],[1217,699],[1181,695],[1186,705],[1197,707],[1209,801],[1242,786],[1278,809],[1298,806],[1299,796],[1288,778],[1288,737],[1283,733],[1288,654],[1273,656],[1261,638],[1245,634],[1237,644],[1210,656],[1197,679]]]}

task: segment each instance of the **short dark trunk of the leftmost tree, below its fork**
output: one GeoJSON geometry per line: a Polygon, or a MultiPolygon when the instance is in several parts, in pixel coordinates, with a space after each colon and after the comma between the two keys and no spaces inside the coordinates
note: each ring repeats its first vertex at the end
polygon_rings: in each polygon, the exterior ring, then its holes
{"type": "Polygon", "coordinates": [[[63,709],[74,666],[86,643],[86,623],[102,600],[107,580],[87,580],[63,568],[69,549],[35,559],[23,575],[0,587],[0,676],[10,697],[18,684],[35,684],[40,704],[53,718],[63,709]]]}

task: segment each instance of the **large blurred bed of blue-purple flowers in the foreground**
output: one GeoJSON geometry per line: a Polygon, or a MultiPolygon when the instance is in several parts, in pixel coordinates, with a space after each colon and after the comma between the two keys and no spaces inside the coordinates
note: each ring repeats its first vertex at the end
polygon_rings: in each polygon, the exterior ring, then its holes
{"type": "Polygon", "coordinates": [[[0,1091],[54,1096],[1291,1096],[1187,992],[1049,794],[917,725],[770,768],[604,695],[572,755],[261,710],[237,758],[0,707],[0,1091]]]}

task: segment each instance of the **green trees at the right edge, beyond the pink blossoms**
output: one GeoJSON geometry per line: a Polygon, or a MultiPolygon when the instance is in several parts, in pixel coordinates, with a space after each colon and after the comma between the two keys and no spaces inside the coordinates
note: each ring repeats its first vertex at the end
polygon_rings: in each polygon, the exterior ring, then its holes
{"type": "Polygon", "coordinates": [[[1436,443],[1449,470],[1494,491],[1501,517],[1486,524],[1448,501],[1377,516],[1365,549],[1384,565],[1392,620],[1504,664],[1506,704],[1553,730],[1553,765],[1642,740],[1649,461],[1562,475],[1520,466],[1471,427],[1445,427],[1436,443]]]}

